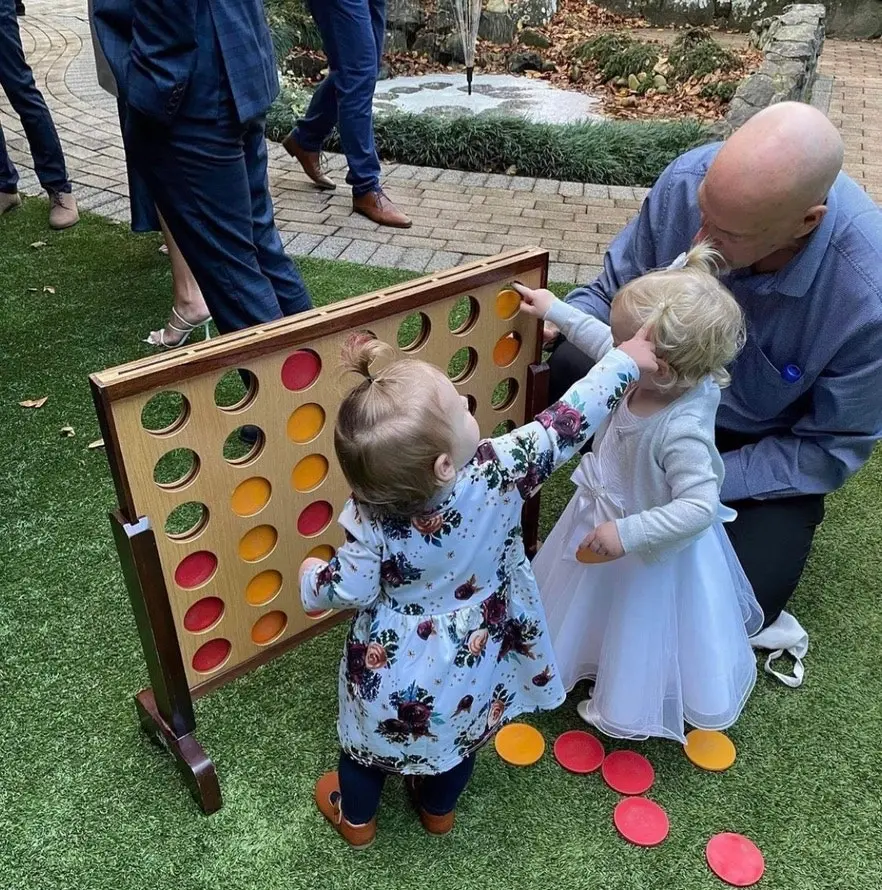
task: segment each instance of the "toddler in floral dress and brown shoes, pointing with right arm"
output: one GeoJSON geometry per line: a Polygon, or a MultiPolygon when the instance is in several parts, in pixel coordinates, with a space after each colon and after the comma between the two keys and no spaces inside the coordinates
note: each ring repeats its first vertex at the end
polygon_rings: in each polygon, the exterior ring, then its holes
{"type": "Polygon", "coordinates": [[[534,422],[481,442],[442,371],[414,359],[372,371],[386,351],[364,338],[344,350],[344,368],[362,376],[335,429],[353,492],[346,542],[300,569],[304,609],[356,610],[340,665],[339,769],[315,787],[353,847],[374,839],[389,773],[407,777],[424,828],[446,834],[477,749],[504,722],[563,701],[521,508],[640,370],[656,368],[640,331],[534,422]]]}

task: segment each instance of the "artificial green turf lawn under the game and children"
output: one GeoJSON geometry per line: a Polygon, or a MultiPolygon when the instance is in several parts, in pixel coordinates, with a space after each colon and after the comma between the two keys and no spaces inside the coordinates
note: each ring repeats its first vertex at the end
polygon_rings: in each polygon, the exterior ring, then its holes
{"type": "MultiPolygon", "coordinates": [[[[140,339],[168,309],[168,261],[122,226],[87,217],[56,234],[45,217],[28,201],[0,219],[3,890],[702,890],[723,886],[703,857],[721,830],[759,844],[770,890],[882,884],[878,455],[830,499],[794,603],[812,635],[805,686],[760,678],[730,733],[739,758],[727,773],[698,771],[670,743],[635,746],[671,818],[661,847],[617,836],[617,798],[598,776],[571,776],[550,752],[507,767],[488,749],[450,837],[428,839],[392,781],[374,847],[345,849],[311,800],[335,762],[341,629],[198,702],[225,795],[203,817],[134,717],[146,672],[106,519],[106,459],[86,447],[99,436],[87,374],[149,352],[140,339]],[[41,396],[41,409],[18,405],[41,396]],[[67,425],[72,438],[60,435],[67,425]]],[[[324,299],[404,277],[302,268],[324,299]]],[[[548,487],[546,528],[567,487],[565,473],[548,487]]],[[[535,718],[549,742],[579,726],[577,699],[535,718]]]]}

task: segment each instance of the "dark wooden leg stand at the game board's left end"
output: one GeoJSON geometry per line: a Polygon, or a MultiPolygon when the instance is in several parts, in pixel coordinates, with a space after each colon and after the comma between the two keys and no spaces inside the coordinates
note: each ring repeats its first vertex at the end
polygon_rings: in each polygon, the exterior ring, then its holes
{"type": "Polygon", "coordinates": [[[221,807],[220,784],[214,764],[193,735],[193,698],[153,530],[146,518],[129,523],[120,511],[110,514],[110,522],[151,683],[135,696],[138,719],[174,755],[203,812],[214,813],[221,807]]]}

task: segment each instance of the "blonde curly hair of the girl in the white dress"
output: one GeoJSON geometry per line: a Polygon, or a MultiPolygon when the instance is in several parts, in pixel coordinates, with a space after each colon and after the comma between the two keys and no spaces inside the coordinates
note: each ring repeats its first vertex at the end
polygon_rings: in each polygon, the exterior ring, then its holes
{"type": "Polygon", "coordinates": [[[731,382],[728,367],[744,346],[744,313],[717,280],[722,268],[721,255],[701,242],[676,267],[641,275],[613,298],[649,325],[656,355],[669,368],[662,389],[689,389],[708,374],[721,387],[731,382]]]}

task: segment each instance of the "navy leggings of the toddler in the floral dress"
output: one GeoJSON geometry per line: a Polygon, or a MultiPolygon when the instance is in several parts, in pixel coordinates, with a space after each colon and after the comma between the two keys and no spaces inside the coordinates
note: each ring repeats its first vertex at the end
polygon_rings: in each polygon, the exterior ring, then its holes
{"type": "MultiPolygon", "coordinates": [[[[420,785],[420,806],[433,816],[443,816],[456,807],[475,768],[475,755],[460,761],[453,769],[437,776],[425,776],[420,785]]],[[[388,773],[362,766],[340,752],[340,794],[343,817],[351,825],[370,822],[380,805],[380,794],[388,773]]]]}

